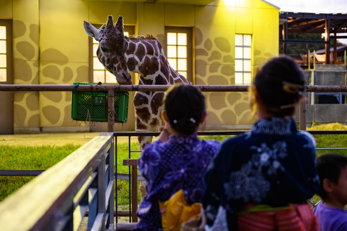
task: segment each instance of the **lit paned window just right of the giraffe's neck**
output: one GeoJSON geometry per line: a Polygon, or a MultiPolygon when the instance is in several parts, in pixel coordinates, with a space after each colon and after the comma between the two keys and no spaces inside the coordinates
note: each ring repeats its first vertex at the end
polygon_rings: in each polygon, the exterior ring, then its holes
{"type": "Polygon", "coordinates": [[[173,70],[187,78],[187,34],[167,33],[168,62],[173,70]]]}

